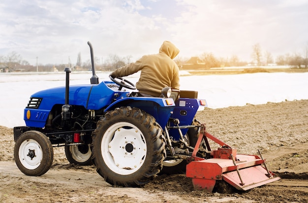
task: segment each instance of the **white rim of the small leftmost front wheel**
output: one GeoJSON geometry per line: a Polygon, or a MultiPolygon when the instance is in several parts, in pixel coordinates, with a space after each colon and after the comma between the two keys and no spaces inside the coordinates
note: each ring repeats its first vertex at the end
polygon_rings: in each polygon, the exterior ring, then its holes
{"type": "Polygon", "coordinates": [[[39,167],[43,159],[41,146],[33,139],[27,139],[20,145],[18,155],[21,164],[29,170],[39,167]]]}

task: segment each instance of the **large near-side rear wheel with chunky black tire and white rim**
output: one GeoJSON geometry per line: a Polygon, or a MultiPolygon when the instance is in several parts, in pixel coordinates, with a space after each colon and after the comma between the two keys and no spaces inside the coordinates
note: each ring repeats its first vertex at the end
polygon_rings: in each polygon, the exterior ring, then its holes
{"type": "Polygon", "coordinates": [[[141,186],[162,168],[165,142],[153,116],[121,107],[110,111],[92,133],[92,161],[111,185],[141,186]]]}

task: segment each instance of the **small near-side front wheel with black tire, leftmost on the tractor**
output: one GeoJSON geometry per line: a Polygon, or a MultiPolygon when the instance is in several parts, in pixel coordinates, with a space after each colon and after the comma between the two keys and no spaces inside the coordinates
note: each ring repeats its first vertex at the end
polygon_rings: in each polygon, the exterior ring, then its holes
{"type": "Polygon", "coordinates": [[[14,159],[27,176],[41,176],[51,167],[54,151],[48,137],[39,131],[27,131],[16,141],[14,159]]]}

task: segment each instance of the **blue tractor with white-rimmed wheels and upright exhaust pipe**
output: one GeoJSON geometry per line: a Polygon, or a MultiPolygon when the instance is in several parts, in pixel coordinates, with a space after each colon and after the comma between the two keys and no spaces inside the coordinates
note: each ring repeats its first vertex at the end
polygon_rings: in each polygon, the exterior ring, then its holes
{"type": "Polygon", "coordinates": [[[195,91],[162,90],[159,98],[137,97],[123,78],[99,83],[92,45],[91,84],[66,84],[31,95],[24,109],[26,126],[14,127],[15,161],[29,176],[51,167],[53,147],[64,147],[70,163],[95,164],[112,185],[138,186],[158,173],[185,171],[198,138],[194,119],[205,100],[195,91]],[[131,91],[128,91],[131,89],[131,91]]]}

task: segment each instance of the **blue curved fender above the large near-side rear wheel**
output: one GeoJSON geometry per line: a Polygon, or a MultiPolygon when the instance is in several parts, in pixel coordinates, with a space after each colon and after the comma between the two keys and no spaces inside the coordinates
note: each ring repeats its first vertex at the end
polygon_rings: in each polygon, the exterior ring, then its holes
{"type": "Polygon", "coordinates": [[[140,108],[152,115],[156,122],[164,128],[173,112],[175,103],[172,99],[154,97],[128,97],[113,102],[105,109],[105,112],[121,106],[140,108]]]}

